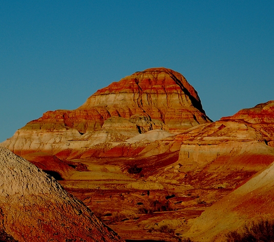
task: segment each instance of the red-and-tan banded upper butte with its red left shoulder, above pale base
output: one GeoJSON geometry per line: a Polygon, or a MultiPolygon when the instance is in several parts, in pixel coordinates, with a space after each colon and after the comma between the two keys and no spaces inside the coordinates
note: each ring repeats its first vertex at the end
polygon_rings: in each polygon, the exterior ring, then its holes
{"type": "MultiPolygon", "coordinates": [[[[110,117],[122,117],[137,123],[145,122],[181,131],[200,123],[210,122],[202,109],[200,98],[186,79],[170,69],[153,68],[136,72],[98,90],[79,108],[49,111],[29,124],[64,124],[80,133],[101,129],[110,117]],[[153,122],[152,119],[160,122],[153,122]],[[154,124],[153,124],[154,123],[154,124]]],[[[141,126],[141,125],[140,125],[141,126]]],[[[146,130],[146,131],[148,131],[146,130]]]]}

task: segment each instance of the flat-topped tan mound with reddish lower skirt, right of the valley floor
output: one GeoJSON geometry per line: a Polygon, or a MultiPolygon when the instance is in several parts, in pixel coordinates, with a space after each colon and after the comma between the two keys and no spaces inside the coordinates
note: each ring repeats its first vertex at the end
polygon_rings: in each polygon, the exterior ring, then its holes
{"type": "Polygon", "coordinates": [[[208,189],[208,194],[210,189],[235,189],[274,161],[264,136],[242,120],[201,124],[167,139],[139,153],[149,157],[179,150],[177,161],[147,179],[208,189]]]}

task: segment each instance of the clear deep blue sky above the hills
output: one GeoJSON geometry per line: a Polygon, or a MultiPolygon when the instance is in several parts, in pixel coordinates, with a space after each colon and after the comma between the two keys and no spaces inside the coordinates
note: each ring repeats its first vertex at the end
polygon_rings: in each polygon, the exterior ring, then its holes
{"type": "Polygon", "coordinates": [[[136,71],[166,67],[213,120],[274,99],[274,1],[0,2],[0,142],[136,71]]]}

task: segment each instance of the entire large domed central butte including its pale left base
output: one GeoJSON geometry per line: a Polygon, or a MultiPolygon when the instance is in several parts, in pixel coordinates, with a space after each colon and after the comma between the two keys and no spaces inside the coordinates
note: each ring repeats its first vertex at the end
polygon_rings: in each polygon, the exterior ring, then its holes
{"type": "Polygon", "coordinates": [[[75,110],[46,112],[2,143],[19,155],[87,151],[153,129],[178,134],[210,123],[195,89],[178,72],[152,68],[98,90],[75,110]]]}

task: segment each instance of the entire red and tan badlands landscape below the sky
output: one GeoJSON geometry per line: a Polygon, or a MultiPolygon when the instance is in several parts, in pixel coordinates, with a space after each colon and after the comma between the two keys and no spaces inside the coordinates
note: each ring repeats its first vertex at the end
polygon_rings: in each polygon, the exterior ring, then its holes
{"type": "Polygon", "coordinates": [[[3,241],[226,241],[274,213],[274,101],[213,122],[170,69],[48,111],[0,146],[3,241]]]}

